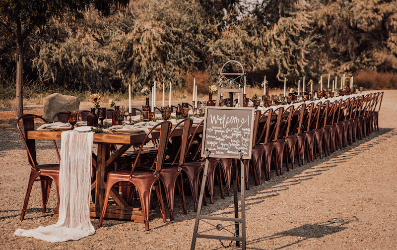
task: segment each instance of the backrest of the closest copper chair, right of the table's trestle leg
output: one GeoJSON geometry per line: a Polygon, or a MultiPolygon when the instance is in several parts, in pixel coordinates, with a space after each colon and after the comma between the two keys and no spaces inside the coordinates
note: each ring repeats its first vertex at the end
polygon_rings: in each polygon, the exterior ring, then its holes
{"type": "Polygon", "coordinates": [[[153,175],[158,175],[161,171],[161,168],[163,167],[163,163],[164,163],[164,158],[165,158],[165,147],[167,145],[168,142],[168,138],[169,138],[169,134],[172,128],[172,123],[170,121],[165,121],[162,123],[159,123],[155,126],[153,126],[149,132],[146,134],[146,136],[144,137],[142,144],[139,148],[138,154],[136,155],[135,161],[132,165],[132,170],[130,173],[130,179],[132,179],[132,175],[133,175],[133,171],[135,170],[135,167],[138,165],[138,163],[140,162],[140,154],[142,152],[143,146],[146,144],[146,142],[148,142],[149,139],[149,135],[151,135],[153,132],[154,133],[159,133],[158,136],[158,146],[157,146],[157,156],[156,156],[156,160],[155,160],[155,170],[153,175]],[[156,128],[160,126],[160,131],[158,131],[156,128]]]}

